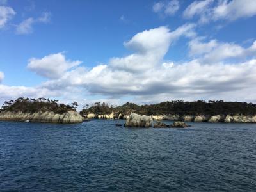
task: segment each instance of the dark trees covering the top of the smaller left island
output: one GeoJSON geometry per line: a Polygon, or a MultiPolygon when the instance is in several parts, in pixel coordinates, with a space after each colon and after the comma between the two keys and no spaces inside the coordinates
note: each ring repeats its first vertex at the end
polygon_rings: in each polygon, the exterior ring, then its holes
{"type": "Polygon", "coordinates": [[[40,97],[38,99],[29,99],[19,97],[16,100],[5,101],[1,111],[21,111],[23,113],[35,113],[53,111],[54,113],[63,114],[67,111],[76,111],[77,102],[72,102],[70,105],[58,104],[58,100],[45,99],[40,97]]]}

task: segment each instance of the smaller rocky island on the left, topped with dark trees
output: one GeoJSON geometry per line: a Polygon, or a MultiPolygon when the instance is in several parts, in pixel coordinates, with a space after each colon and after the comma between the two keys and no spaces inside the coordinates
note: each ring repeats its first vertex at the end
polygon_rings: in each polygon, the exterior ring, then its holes
{"type": "Polygon", "coordinates": [[[76,102],[69,106],[58,104],[58,100],[20,97],[4,102],[2,109],[0,109],[0,120],[61,124],[81,123],[83,121],[82,116],[77,113],[76,106],[76,102]]]}

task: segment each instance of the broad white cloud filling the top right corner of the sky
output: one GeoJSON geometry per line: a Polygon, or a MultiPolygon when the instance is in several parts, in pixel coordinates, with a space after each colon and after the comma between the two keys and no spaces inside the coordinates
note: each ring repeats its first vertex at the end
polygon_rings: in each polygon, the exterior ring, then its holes
{"type": "Polygon", "coordinates": [[[199,17],[200,23],[210,20],[236,20],[256,15],[256,1],[252,0],[213,0],[194,1],[183,12],[186,19],[199,17]]]}

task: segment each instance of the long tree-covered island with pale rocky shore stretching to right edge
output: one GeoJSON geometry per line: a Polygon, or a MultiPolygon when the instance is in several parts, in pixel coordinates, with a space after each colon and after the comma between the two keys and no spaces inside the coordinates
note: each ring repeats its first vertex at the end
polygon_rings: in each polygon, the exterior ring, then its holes
{"type": "Polygon", "coordinates": [[[145,105],[127,102],[122,106],[109,106],[104,102],[102,104],[97,102],[92,106],[84,106],[84,109],[80,111],[84,118],[99,119],[126,120],[131,113],[147,115],[153,120],[256,123],[256,104],[223,100],[209,100],[208,102],[173,100],[145,105]]]}

